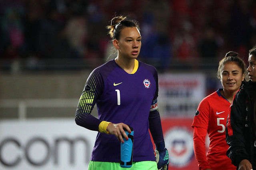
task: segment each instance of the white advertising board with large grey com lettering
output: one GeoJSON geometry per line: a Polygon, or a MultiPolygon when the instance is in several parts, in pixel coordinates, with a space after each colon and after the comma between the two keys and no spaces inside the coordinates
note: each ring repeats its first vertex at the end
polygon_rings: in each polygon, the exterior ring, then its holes
{"type": "Polygon", "coordinates": [[[87,169],[96,135],[74,119],[0,121],[0,169],[87,169]]]}

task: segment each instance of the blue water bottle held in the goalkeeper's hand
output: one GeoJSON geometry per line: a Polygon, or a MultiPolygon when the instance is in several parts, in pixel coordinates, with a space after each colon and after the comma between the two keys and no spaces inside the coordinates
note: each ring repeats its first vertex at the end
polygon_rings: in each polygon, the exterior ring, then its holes
{"type": "MultiPolygon", "coordinates": [[[[130,127],[130,126],[129,126],[130,127]]],[[[133,153],[133,128],[130,127],[131,133],[124,128],[126,135],[128,136],[128,140],[124,139],[124,143],[121,142],[121,158],[120,158],[120,166],[122,168],[131,168],[132,167],[132,153],[133,153]]]]}

